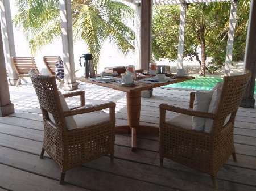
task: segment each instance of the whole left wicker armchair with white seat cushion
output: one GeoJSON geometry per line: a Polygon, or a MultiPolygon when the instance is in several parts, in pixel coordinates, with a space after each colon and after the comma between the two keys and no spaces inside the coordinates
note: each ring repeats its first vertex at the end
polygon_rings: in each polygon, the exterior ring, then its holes
{"type": "MultiPolygon", "coordinates": [[[[84,91],[71,92],[63,94],[63,96],[80,95],[81,108],[72,108],[64,112],[55,77],[37,75],[33,70],[29,74],[43,114],[44,141],[40,158],[43,158],[44,151],[46,151],[59,165],[61,169],[60,184],[64,182],[65,172],[77,165],[108,154],[113,161],[115,103],[82,107],[85,105],[84,91]],[[101,111],[106,108],[110,109],[109,114],[101,111]],[[93,120],[92,114],[98,111],[101,114],[93,120]],[[106,121],[101,120],[104,114],[106,121]],[[68,130],[66,121],[68,116],[72,116],[74,119],[75,116],[79,118],[80,127],[68,130]],[[89,125],[86,125],[88,121],[90,121],[89,125]],[[81,126],[81,122],[85,124],[81,126]]],[[[77,126],[79,126],[78,123],[77,126]]]]}

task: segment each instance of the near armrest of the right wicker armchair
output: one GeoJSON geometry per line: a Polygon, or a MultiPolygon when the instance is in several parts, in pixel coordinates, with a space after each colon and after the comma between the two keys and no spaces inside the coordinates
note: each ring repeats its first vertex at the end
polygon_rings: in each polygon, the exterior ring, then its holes
{"type": "Polygon", "coordinates": [[[187,114],[189,116],[211,118],[213,120],[216,118],[215,114],[213,114],[213,113],[193,111],[190,109],[179,108],[179,107],[175,107],[175,106],[168,105],[168,104],[160,104],[160,111],[161,111],[161,109],[176,112],[176,113],[187,114]]]}

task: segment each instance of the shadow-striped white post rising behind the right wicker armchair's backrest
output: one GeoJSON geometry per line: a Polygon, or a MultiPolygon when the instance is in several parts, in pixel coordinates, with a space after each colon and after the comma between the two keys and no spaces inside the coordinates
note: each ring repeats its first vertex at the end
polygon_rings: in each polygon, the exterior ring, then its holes
{"type": "Polygon", "coordinates": [[[224,75],[230,75],[230,64],[232,62],[234,33],[236,30],[236,20],[237,20],[238,0],[231,0],[230,2],[231,2],[231,8],[230,8],[230,15],[229,15],[229,32],[228,32],[228,42],[226,45],[226,61],[225,61],[224,75]]]}

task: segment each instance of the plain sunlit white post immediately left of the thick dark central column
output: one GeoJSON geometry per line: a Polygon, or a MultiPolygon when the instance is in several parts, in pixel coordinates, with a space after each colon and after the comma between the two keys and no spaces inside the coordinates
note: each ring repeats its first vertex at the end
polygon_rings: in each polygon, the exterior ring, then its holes
{"type": "Polygon", "coordinates": [[[141,3],[136,5],[135,16],[135,69],[141,68],[141,3]]]}

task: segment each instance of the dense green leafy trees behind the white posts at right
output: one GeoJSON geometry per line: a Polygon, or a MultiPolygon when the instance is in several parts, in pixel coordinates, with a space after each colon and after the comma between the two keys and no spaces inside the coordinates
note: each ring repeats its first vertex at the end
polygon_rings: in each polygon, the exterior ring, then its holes
{"type": "MultiPolygon", "coordinates": [[[[238,5],[233,60],[241,60],[245,53],[249,5],[249,0],[240,1],[238,5]]],[[[189,56],[190,60],[195,57],[201,65],[199,50],[203,55],[205,48],[205,54],[211,58],[207,67],[211,73],[225,63],[229,12],[230,2],[191,3],[187,7],[184,56],[189,56]]],[[[177,5],[154,7],[152,50],[156,59],[177,59],[179,17],[177,5]]]]}

